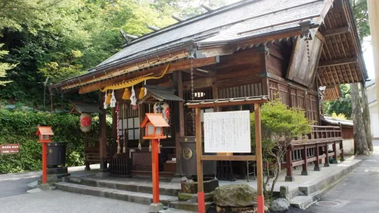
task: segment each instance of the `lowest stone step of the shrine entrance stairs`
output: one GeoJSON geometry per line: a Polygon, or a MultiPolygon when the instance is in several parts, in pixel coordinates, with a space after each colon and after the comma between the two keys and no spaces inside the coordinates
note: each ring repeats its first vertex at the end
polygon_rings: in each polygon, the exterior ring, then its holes
{"type": "MultiPolygon", "coordinates": [[[[130,192],[125,190],[116,190],[110,188],[94,187],[94,186],[84,186],[75,183],[60,182],[54,183],[56,189],[74,192],[78,194],[87,194],[97,197],[106,197],[109,199],[117,199],[122,201],[129,201],[133,203],[140,203],[144,205],[150,205],[153,203],[153,194],[141,193],[141,192],[130,192]]],[[[160,195],[160,202],[163,205],[168,206],[170,202],[177,201],[177,197],[160,195]]]]}

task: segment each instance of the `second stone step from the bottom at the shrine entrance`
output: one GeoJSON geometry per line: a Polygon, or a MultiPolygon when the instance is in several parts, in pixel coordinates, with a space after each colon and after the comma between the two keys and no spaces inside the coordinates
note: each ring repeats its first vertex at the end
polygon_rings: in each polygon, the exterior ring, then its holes
{"type": "MultiPolygon", "coordinates": [[[[67,183],[75,183],[84,186],[100,187],[100,188],[109,188],[116,190],[124,190],[129,192],[140,192],[151,194],[153,193],[153,186],[146,183],[136,183],[135,181],[122,182],[122,181],[109,181],[109,180],[100,180],[100,179],[91,179],[86,177],[64,177],[63,181],[67,183]]],[[[179,185],[178,185],[179,186],[179,185]]],[[[160,184],[160,194],[167,196],[175,196],[180,192],[180,188],[177,186],[169,186],[165,184],[160,184]]]]}

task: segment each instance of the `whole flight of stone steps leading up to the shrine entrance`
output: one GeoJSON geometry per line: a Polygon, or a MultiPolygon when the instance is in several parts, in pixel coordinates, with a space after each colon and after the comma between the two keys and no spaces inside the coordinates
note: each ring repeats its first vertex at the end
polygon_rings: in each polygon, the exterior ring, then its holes
{"type": "MultiPolygon", "coordinates": [[[[64,177],[62,182],[54,183],[57,190],[87,194],[109,199],[118,199],[133,203],[150,205],[153,203],[151,181],[141,179],[98,179],[96,177],[64,177]]],[[[180,196],[180,183],[160,183],[160,202],[166,208],[197,212],[196,194],[180,196]]],[[[206,206],[210,206],[213,197],[207,197],[206,206]]]]}

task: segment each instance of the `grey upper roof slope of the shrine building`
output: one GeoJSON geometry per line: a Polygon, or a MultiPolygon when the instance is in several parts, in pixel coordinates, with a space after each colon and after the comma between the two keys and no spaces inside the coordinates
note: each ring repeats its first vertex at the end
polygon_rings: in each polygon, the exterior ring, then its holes
{"type": "Polygon", "coordinates": [[[127,63],[133,58],[147,56],[155,51],[162,52],[184,43],[188,45],[188,43],[230,41],[299,27],[299,22],[321,14],[325,2],[323,0],[239,1],[136,38],[120,52],[89,71],[127,63]],[[252,32],[240,34],[251,30],[252,32]]]}

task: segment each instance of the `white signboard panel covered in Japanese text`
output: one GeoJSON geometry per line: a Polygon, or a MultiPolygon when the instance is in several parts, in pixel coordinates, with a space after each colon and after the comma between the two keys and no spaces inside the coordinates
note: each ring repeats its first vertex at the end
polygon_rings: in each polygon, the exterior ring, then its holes
{"type": "Polygon", "coordinates": [[[251,153],[250,111],[204,113],[205,153],[251,153]]]}

